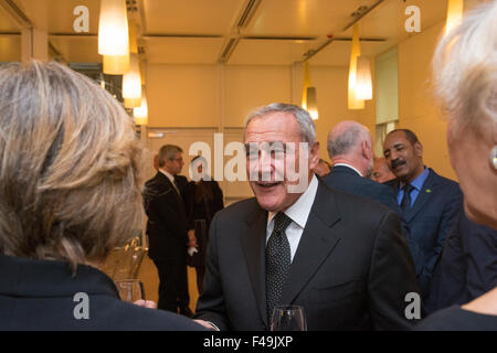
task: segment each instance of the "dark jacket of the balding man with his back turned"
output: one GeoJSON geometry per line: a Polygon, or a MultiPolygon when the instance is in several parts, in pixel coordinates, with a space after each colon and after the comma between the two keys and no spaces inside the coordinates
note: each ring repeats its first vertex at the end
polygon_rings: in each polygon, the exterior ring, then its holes
{"type": "MultiPolygon", "coordinates": [[[[331,189],[377,201],[395,212],[402,218],[402,233],[408,239],[413,258],[417,255],[417,244],[411,239],[408,223],[403,220],[402,210],[391,188],[363,178],[353,169],[345,165],[334,167],[324,181],[331,189]]],[[[416,268],[416,274],[420,272],[421,268],[416,268]]]]}

